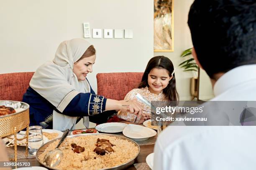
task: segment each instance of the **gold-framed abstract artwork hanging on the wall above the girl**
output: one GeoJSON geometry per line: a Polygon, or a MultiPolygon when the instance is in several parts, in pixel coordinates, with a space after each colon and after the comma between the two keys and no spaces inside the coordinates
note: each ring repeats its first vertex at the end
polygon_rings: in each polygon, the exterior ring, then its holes
{"type": "Polygon", "coordinates": [[[154,52],[174,51],[174,0],[154,0],[154,52]]]}

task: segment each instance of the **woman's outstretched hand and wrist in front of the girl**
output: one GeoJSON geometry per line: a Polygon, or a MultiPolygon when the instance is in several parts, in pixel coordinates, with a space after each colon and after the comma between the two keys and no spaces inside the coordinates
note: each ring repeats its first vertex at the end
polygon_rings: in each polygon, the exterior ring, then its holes
{"type": "Polygon", "coordinates": [[[120,100],[119,102],[121,111],[133,113],[137,115],[137,117],[145,116],[145,114],[142,113],[142,106],[137,99],[120,100]]]}

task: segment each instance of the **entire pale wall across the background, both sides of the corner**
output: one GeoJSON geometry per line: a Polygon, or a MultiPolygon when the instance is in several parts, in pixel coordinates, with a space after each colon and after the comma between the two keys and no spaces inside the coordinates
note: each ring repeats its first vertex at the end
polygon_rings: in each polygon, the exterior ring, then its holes
{"type": "MultiPolygon", "coordinates": [[[[181,52],[192,47],[187,14],[192,0],[174,1],[174,52],[153,52],[153,0],[2,0],[0,5],[0,73],[35,71],[52,60],[59,43],[83,37],[82,23],[92,28],[132,29],[133,39],[87,38],[97,50],[88,79],[97,91],[99,72],[143,72],[156,55],[169,57],[177,67],[181,52]]],[[[92,30],[91,30],[92,31],[92,30]]],[[[190,99],[192,73],[176,70],[181,100],[190,99]]],[[[204,74],[201,98],[212,97],[204,74]]]]}

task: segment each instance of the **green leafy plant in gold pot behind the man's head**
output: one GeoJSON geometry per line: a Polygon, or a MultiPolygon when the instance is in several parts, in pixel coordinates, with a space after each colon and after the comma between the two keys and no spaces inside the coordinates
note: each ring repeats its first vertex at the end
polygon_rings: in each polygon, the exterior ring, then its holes
{"type": "Polygon", "coordinates": [[[192,48],[189,48],[182,52],[180,57],[185,58],[185,61],[179,64],[179,67],[183,68],[183,71],[192,71],[194,73],[194,77],[191,78],[191,95],[192,100],[197,97],[199,100],[199,75],[200,68],[196,64],[194,58],[192,57],[192,48]]]}

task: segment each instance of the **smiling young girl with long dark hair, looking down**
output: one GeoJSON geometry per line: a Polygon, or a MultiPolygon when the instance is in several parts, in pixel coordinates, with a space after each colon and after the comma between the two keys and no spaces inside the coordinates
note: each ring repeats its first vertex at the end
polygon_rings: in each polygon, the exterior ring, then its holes
{"type": "MultiPolygon", "coordinates": [[[[133,92],[138,92],[148,101],[178,101],[176,79],[172,61],[164,56],[156,56],[149,60],[138,88],[127,93],[124,100],[135,99],[133,92]]],[[[150,117],[151,108],[142,103],[146,116],[136,117],[129,112],[118,112],[118,118],[128,122],[141,124],[150,117]]]]}

